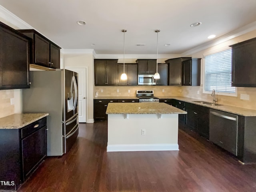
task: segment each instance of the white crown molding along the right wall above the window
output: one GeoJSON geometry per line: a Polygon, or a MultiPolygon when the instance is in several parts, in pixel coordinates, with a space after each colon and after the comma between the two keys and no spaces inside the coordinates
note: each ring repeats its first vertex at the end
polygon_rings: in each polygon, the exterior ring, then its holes
{"type": "Polygon", "coordinates": [[[207,49],[207,48],[212,47],[212,46],[216,46],[216,45],[218,45],[220,43],[226,42],[226,41],[228,41],[230,39],[236,38],[238,36],[241,36],[243,34],[251,32],[253,30],[256,30],[256,21],[252,22],[252,23],[250,23],[248,25],[245,25],[245,26],[243,26],[241,28],[238,28],[238,29],[236,29],[236,30],[234,30],[234,31],[232,31],[232,32],[230,32],[228,34],[225,34],[225,35],[223,35],[223,36],[221,36],[219,38],[216,38],[216,39],[214,39],[214,40],[212,40],[210,42],[206,42],[204,44],[196,46],[196,47],[194,47],[194,48],[192,48],[192,49],[182,53],[181,55],[188,56],[188,55],[194,54],[196,52],[200,52],[200,51],[202,51],[204,49],[207,49]]]}

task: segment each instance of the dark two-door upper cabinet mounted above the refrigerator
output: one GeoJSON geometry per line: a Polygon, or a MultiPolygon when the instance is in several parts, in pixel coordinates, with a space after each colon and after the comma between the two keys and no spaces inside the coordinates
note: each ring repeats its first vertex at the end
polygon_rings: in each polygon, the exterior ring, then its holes
{"type": "Polygon", "coordinates": [[[34,68],[60,68],[60,47],[48,40],[34,29],[18,30],[32,39],[30,64],[34,68]],[[35,64],[35,65],[34,65],[35,64]]]}

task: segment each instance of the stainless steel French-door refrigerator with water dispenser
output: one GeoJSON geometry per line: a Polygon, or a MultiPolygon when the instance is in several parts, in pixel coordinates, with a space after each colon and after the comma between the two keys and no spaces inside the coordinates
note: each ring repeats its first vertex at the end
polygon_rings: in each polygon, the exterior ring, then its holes
{"type": "Polygon", "coordinates": [[[49,113],[47,155],[68,152],[78,136],[78,74],[70,70],[30,71],[22,90],[24,113],[49,113]]]}

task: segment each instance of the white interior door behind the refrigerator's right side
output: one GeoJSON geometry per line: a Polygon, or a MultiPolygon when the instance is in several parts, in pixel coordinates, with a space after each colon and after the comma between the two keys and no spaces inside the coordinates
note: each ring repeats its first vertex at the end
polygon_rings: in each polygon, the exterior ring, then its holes
{"type": "Polygon", "coordinates": [[[78,73],[78,120],[86,122],[86,68],[66,68],[78,73]]]}

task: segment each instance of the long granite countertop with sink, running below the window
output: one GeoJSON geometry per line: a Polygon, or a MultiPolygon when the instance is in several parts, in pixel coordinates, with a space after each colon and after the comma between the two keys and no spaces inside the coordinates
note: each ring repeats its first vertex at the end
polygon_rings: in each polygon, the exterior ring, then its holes
{"type": "MultiPolygon", "coordinates": [[[[242,108],[242,107],[236,107],[236,106],[231,106],[231,105],[225,105],[225,104],[221,104],[221,103],[219,106],[210,106],[210,105],[206,105],[206,104],[193,102],[193,101],[202,101],[202,100],[193,99],[193,98],[180,97],[180,96],[156,96],[156,97],[158,97],[160,99],[176,99],[176,100],[180,100],[180,101],[184,101],[184,102],[188,102],[188,103],[192,103],[192,104],[197,104],[200,106],[204,106],[204,107],[208,107],[208,108],[212,108],[212,109],[216,109],[216,110],[220,110],[220,111],[224,111],[224,112],[241,115],[241,116],[256,116],[256,110],[242,108]]],[[[209,101],[205,101],[205,102],[209,102],[209,101]]],[[[218,104],[218,102],[217,102],[217,104],[218,104]]]]}

